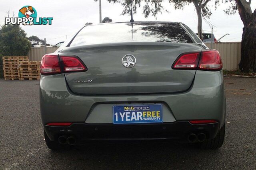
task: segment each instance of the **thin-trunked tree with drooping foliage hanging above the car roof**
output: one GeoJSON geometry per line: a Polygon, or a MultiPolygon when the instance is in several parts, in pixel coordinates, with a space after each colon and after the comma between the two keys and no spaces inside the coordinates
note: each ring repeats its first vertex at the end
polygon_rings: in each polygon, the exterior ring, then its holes
{"type": "MultiPolygon", "coordinates": [[[[141,2],[145,2],[145,5],[142,7],[143,14],[145,17],[148,17],[149,14],[156,16],[159,12],[162,13],[164,7],[162,2],[164,0],[107,0],[108,2],[121,3],[124,6],[122,15],[131,14],[131,10],[136,14],[136,9],[141,6],[141,2]]],[[[184,6],[191,3],[194,4],[196,8],[196,14],[198,16],[198,36],[203,39],[202,36],[202,18],[209,18],[212,15],[212,12],[207,6],[207,3],[210,0],[169,0],[170,3],[174,4],[175,9],[183,9],[184,6]]]]}

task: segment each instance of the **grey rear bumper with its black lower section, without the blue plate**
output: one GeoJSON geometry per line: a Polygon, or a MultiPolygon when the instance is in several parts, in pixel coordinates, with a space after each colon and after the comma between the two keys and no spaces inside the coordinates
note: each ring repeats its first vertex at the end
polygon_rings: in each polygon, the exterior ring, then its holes
{"type": "MultiPolygon", "coordinates": [[[[177,139],[186,141],[191,131],[205,130],[212,138],[225,122],[226,98],[222,71],[196,71],[191,88],[182,93],[150,95],[82,96],[72,93],[64,74],[41,76],[40,111],[44,129],[51,140],[58,135],[75,135],[79,141],[110,139],[177,139]],[[112,105],[163,105],[163,123],[113,125],[112,105]],[[104,117],[105,116],[105,117],[104,117]],[[192,125],[189,120],[216,120],[218,123],[192,125]],[[78,122],[70,127],[47,123],[78,122]],[[62,131],[61,131],[62,130],[62,131]]],[[[196,132],[197,133],[197,132],[196,132]]]]}

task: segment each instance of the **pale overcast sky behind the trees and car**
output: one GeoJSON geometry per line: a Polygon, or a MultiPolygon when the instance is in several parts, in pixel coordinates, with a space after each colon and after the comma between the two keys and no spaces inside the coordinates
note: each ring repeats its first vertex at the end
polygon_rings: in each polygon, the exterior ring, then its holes
{"type": "MultiPolygon", "coordinates": [[[[174,10],[171,4],[164,2],[165,8],[169,11],[157,15],[157,20],[153,16],[144,18],[142,10],[139,9],[134,15],[135,21],[179,21],[188,25],[194,32],[197,32],[197,15],[194,6],[186,6],[183,10],[174,10]]],[[[4,24],[6,11],[15,12],[18,17],[19,9],[22,6],[33,6],[37,11],[37,17],[53,17],[52,25],[22,25],[27,36],[35,35],[40,39],[46,38],[47,43],[52,45],[65,41],[66,35],[70,37],[86,22],[99,23],[99,3],[94,0],[0,0],[0,24],[4,24]]],[[[143,6],[143,4],[142,4],[143,6]]],[[[223,41],[241,41],[243,24],[238,14],[228,16],[223,10],[227,4],[220,4],[217,10],[212,6],[212,16],[210,21],[215,26],[215,37],[218,39],[222,35],[229,33],[222,39],[223,41]]],[[[252,10],[256,8],[256,0],[252,1],[252,10]]],[[[110,4],[102,0],[102,20],[109,17],[113,22],[130,21],[130,16],[121,16],[122,6],[120,4],[110,4]]],[[[203,22],[204,32],[211,28],[203,22]]]]}

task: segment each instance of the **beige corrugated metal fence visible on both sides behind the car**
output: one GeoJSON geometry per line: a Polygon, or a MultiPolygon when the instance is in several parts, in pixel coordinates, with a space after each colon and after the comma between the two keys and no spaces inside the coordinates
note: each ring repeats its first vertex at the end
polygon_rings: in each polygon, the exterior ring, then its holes
{"type": "MultiPolygon", "coordinates": [[[[206,44],[210,48],[210,44],[206,44]]],[[[58,47],[47,47],[46,53],[53,53],[58,47]]],[[[213,48],[220,52],[223,69],[237,70],[241,60],[241,42],[214,43],[213,48]]],[[[28,53],[29,61],[41,61],[44,56],[44,47],[32,47],[28,53]]]]}

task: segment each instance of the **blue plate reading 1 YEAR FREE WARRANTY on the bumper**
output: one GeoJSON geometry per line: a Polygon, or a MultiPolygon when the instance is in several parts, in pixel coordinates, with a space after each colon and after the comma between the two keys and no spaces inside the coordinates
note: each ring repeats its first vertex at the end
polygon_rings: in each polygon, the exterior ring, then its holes
{"type": "Polygon", "coordinates": [[[161,123],[161,104],[113,106],[113,124],[161,123]]]}

